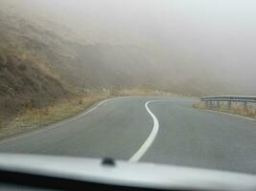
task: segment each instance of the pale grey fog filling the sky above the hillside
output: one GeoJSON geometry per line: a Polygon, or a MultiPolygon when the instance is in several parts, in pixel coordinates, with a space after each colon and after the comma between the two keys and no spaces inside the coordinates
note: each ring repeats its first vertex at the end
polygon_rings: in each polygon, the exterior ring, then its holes
{"type": "Polygon", "coordinates": [[[19,0],[12,4],[68,26],[87,44],[135,45],[159,52],[165,61],[155,67],[167,74],[175,67],[184,78],[211,78],[238,87],[239,94],[256,94],[253,0],[19,0]]]}

